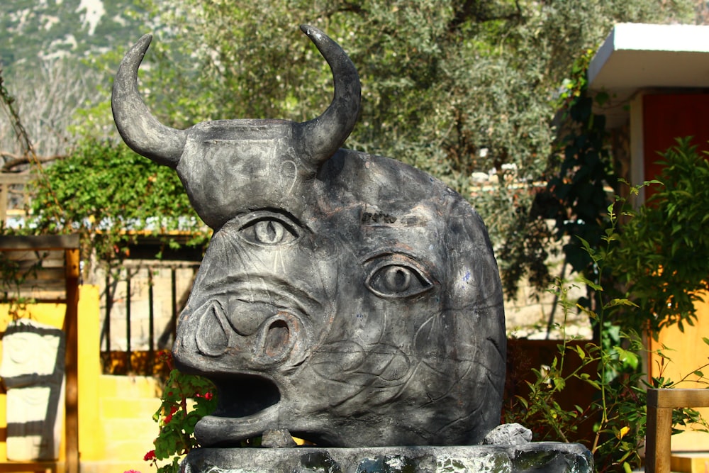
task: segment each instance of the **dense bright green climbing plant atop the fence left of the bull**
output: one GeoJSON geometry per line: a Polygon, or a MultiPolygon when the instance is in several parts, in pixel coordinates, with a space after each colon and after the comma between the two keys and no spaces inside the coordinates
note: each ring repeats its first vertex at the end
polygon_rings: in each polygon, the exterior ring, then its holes
{"type": "MultiPolygon", "coordinates": [[[[203,246],[211,234],[172,169],[122,143],[87,138],[65,159],[35,174],[31,187],[26,231],[78,232],[83,254],[112,266],[120,265],[138,235],[175,247],[175,235],[189,235],[187,245],[203,246]]],[[[84,273],[90,269],[86,265],[84,273]]]]}

